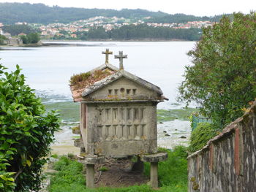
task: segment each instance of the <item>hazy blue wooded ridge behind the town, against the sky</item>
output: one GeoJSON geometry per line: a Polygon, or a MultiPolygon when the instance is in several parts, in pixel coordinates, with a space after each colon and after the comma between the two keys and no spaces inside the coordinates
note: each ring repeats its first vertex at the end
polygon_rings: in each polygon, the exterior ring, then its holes
{"type": "Polygon", "coordinates": [[[163,17],[164,12],[149,12],[144,9],[83,9],[48,7],[45,4],[0,3],[0,23],[69,23],[75,20],[88,19],[95,16],[118,18],[163,17]]]}

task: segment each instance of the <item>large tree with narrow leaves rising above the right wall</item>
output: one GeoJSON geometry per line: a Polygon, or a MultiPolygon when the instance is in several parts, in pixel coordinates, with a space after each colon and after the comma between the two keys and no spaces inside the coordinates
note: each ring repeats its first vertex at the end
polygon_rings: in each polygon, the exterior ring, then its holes
{"type": "Polygon", "coordinates": [[[179,100],[195,101],[200,112],[223,127],[240,117],[256,97],[256,13],[224,16],[189,51],[179,100]]]}

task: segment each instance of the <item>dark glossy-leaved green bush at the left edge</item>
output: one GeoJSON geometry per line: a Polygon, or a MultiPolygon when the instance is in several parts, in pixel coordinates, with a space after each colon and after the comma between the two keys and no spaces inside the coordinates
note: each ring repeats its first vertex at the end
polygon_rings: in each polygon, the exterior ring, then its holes
{"type": "Polygon", "coordinates": [[[38,191],[59,115],[45,113],[19,66],[5,69],[0,64],[0,191],[38,191]]]}

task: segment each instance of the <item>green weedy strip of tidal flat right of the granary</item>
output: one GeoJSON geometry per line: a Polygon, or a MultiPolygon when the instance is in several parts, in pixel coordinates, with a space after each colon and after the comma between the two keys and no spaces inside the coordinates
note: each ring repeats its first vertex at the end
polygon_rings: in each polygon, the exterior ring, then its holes
{"type": "Polygon", "coordinates": [[[197,112],[194,108],[184,108],[179,110],[157,110],[157,121],[169,121],[169,120],[189,120],[192,112],[197,112]]]}

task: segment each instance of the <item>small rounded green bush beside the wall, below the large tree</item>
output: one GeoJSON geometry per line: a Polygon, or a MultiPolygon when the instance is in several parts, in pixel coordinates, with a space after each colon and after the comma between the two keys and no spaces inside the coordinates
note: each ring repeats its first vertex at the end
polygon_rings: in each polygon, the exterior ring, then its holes
{"type": "Polygon", "coordinates": [[[193,153],[206,145],[208,140],[217,135],[217,130],[211,123],[197,123],[197,128],[192,131],[190,137],[189,152],[193,153]]]}

